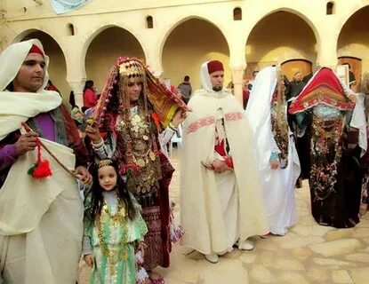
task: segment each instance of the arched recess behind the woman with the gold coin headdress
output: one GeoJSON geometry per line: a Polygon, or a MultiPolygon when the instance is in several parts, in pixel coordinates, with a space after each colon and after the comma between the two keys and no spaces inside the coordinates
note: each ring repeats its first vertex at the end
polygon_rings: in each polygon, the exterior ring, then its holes
{"type": "Polygon", "coordinates": [[[102,91],[108,72],[119,56],[136,57],[145,61],[145,54],[135,36],[124,28],[103,29],[88,46],[85,69],[88,80],[102,91]]]}

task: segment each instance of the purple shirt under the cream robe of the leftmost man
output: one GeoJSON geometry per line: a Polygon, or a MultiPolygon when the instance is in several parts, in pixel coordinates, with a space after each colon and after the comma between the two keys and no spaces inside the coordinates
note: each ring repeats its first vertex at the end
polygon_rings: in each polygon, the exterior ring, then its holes
{"type": "MultiPolygon", "coordinates": [[[[55,129],[52,117],[48,113],[38,114],[36,117],[38,127],[43,132],[44,138],[55,141],[55,129]]],[[[18,154],[14,144],[5,145],[0,149],[0,170],[4,170],[17,161],[18,154]]]]}

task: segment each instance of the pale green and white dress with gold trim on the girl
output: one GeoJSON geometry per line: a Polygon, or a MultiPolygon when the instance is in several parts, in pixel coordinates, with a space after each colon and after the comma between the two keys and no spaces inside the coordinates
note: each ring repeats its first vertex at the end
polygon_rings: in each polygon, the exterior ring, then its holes
{"type": "MultiPolygon", "coordinates": [[[[115,193],[113,199],[110,196],[110,201],[106,197],[104,194],[101,215],[94,224],[84,222],[87,236],[84,241],[90,241],[94,256],[90,284],[135,284],[134,244],[143,241],[148,228],[140,215],[134,220],[126,216],[115,193]]],[[[88,244],[84,244],[85,247],[88,244]]]]}

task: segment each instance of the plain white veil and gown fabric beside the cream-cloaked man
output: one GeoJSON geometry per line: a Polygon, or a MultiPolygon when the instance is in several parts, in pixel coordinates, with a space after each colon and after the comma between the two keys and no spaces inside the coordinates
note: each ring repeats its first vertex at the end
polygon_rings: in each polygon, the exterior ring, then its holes
{"type": "MultiPolygon", "coordinates": [[[[293,137],[288,141],[288,165],[285,169],[270,168],[272,152],[279,153],[273,138],[270,101],[277,85],[276,67],[261,70],[253,83],[246,117],[253,132],[253,144],[261,175],[264,204],[270,233],[284,235],[296,222],[294,187],[300,175],[300,162],[293,137]]],[[[287,122],[287,121],[286,121],[287,122]]],[[[289,131],[290,134],[291,131],[289,131]]]]}

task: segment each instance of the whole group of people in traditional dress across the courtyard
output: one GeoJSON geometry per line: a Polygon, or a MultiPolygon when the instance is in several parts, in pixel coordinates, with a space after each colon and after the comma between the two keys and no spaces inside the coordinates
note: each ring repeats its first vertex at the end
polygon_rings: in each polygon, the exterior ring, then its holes
{"type": "Polygon", "coordinates": [[[171,91],[120,57],[99,95],[85,83],[86,111],[71,96],[69,113],[45,89],[48,64],[35,39],[0,57],[0,283],[76,283],[83,256],[90,283],[162,284],[155,268],[169,267],[180,237],[215,264],[252,250],[250,237],[285,235],[299,177],[320,225],[349,228],[369,209],[368,75],[355,94],[328,67],[291,83],[265,67],[245,110],[219,60],[192,92],[188,75],[171,91]],[[181,227],[165,153],[180,125],[181,227]]]}

